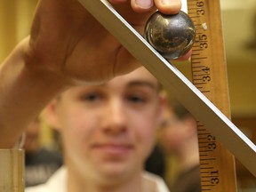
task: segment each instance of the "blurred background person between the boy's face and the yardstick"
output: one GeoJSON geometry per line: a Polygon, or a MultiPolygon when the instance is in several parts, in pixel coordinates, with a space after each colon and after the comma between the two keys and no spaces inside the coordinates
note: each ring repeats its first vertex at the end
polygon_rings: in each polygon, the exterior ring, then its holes
{"type": "Polygon", "coordinates": [[[164,116],[161,146],[179,166],[177,176],[168,181],[168,186],[173,192],[201,192],[196,119],[177,100],[169,102],[164,116]]]}

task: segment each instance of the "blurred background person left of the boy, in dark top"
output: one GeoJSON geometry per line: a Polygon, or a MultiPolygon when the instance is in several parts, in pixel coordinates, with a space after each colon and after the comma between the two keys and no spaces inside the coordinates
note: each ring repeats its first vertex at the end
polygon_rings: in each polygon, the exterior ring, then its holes
{"type": "Polygon", "coordinates": [[[60,151],[41,147],[39,134],[40,117],[37,116],[26,130],[25,150],[25,186],[36,186],[46,182],[63,164],[60,151]]]}

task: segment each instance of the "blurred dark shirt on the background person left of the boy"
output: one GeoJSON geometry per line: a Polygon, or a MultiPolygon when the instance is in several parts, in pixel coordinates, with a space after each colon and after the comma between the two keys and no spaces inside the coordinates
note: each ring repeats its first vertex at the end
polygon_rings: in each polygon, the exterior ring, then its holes
{"type": "Polygon", "coordinates": [[[25,155],[25,186],[36,186],[46,182],[52,173],[62,165],[59,151],[45,148],[33,154],[25,155]]]}

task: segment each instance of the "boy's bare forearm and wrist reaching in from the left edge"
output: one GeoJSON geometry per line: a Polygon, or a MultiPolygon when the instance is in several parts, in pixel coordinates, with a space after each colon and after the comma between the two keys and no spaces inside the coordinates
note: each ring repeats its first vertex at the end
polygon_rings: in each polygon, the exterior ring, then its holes
{"type": "Polygon", "coordinates": [[[12,148],[36,114],[64,89],[61,78],[26,68],[28,38],[0,66],[0,147],[12,148]]]}

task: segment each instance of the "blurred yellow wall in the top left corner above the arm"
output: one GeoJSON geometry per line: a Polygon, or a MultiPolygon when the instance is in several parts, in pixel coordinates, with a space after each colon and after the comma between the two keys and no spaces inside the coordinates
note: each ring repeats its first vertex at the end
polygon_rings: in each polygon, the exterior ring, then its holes
{"type": "Polygon", "coordinates": [[[28,36],[36,0],[0,0],[0,62],[28,36]]]}

